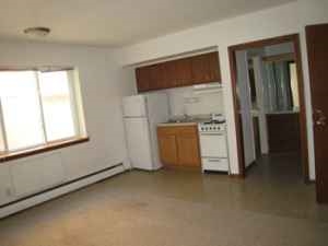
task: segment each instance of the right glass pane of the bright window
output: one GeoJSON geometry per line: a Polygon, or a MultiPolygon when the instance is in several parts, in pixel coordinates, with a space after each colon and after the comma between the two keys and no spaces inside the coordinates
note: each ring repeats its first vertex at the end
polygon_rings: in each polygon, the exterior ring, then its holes
{"type": "Polygon", "coordinates": [[[39,87],[48,141],[75,136],[67,71],[42,72],[39,87]]]}

